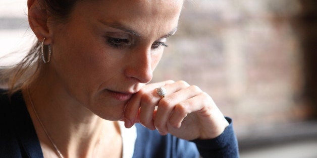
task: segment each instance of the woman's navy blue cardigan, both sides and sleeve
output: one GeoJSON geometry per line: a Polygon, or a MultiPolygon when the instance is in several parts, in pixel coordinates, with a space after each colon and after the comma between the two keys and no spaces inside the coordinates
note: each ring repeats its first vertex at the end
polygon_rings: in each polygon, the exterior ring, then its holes
{"type": "MultiPolygon", "coordinates": [[[[11,101],[0,90],[0,157],[43,157],[32,120],[21,92],[11,101]]],[[[133,157],[239,157],[238,143],[230,125],[214,139],[186,141],[171,134],[160,135],[136,124],[133,157]]]]}

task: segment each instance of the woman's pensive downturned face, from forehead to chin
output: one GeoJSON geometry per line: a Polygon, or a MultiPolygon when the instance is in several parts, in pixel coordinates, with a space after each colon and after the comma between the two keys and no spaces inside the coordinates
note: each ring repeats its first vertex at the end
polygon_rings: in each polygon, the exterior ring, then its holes
{"type": "Polygon", "coordinates": [[[123,118],[150,82],[183,1],[82,1],[66,24],[49,25],[52,80],[98,116],[123,118]]]}

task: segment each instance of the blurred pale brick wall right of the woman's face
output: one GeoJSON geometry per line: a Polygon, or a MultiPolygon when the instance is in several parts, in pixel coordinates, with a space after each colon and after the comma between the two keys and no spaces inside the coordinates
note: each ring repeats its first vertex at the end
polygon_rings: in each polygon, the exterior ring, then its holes
{"type": "Polygon", "coordinates": [[[185,80],[212,96],[248,129],[304,120],[302,54],[291,20],[293,1],[186,2],[154,81],[185,80]]]}

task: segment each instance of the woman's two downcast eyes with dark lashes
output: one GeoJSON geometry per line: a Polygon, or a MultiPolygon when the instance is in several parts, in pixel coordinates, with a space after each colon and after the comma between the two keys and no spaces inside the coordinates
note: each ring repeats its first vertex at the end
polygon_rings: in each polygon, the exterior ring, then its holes
{"type": "MultiPolygon", "coordinates": [[[[112,38],[112,37],[107,37],[107,43],[117,49],[120,49],[126,45],[129,45],[129,40],[128,39],[122,39],[122,38],[112,38]]],[[[152,46],[151,49],[158,49],[161,46],[164,47],[168,47],[167,44],[165,44],[165,42],[159,42],[159,41],[155,41],[152,46]]]]}

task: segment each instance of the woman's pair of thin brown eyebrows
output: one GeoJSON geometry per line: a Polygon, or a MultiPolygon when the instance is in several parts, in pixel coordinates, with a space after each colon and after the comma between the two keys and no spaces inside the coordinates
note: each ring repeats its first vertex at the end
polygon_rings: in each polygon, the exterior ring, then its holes
{"type": "MultiPolygon", "coordinates": [[[[119,29],[125,32],[129,32],[131,34],[134,34],[135,36],[141,36],[141,33],[134,31],[133,29],[131,29],[130,27],[122,24],[122,23],[118,23],[118,22],[113,22],[113,23],[105,23],[105,22],[101,22],[99,21],[101,24],[103,25],[107,25],[109,27],[115,28],[115,29],[119,29]]],[[[172,36],[176,33],[178,26],[176,26],[172,31],[170,31],[169,33],[165,34],[164,36],[162,36],[161,38],[167,38],[169,36],[172,36]]]]}

